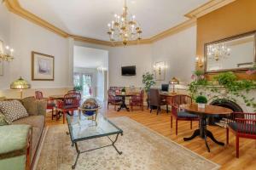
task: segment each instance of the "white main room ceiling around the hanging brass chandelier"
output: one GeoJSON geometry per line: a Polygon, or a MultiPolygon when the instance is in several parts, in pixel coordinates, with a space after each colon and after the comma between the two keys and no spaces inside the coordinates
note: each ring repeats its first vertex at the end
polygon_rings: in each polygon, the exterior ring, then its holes
{"type": "MultiPolygon", "coordinates": [[[[153,37],[186,19],[183,15],[209,0],[127,0],[143,28],[153,37]]],[[[70,34],[108,40],[108,23],[121,14],[124,0],[20,0],[21,7],[70,34]]]]}

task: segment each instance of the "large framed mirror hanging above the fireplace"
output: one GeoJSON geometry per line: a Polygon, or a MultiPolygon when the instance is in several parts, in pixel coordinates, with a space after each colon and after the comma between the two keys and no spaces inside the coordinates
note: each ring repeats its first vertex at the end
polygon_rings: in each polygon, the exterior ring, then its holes
{"type": "Polygon", "coordinates": [[[247,71],[256,62],[255,31],[205,44],[205,71],[247,71]]]}

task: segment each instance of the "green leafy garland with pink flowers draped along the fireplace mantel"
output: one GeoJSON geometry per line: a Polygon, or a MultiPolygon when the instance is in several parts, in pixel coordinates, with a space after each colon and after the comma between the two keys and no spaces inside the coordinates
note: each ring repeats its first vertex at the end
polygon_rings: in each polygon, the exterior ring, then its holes
{"type": "Polygon", "coordinates": [[[248,95],[246,95],[249,94],[253,88],[256,88],[256,81],[237,80],[236,75],[231,71],[219,73],[216,77],[213,77],[212,81],[208,81],[205,78],[203,71],[195,71],[194,75],[192,75],[192,79],[194,79],[194,81],[189,83],[189,94],[193,99],[198,95],[202,95],[203,92],[209,91],[216,95],[213,95],[212,99],[208,100],[218,99],[219,101],[224,101],[229,99],[236,102],[236,97],[242,99],[248,107],[252,107],[256,112],[256,96],[248,97],[248,95]],[[222,91],[224,91],[224,93],[222,91]]]}

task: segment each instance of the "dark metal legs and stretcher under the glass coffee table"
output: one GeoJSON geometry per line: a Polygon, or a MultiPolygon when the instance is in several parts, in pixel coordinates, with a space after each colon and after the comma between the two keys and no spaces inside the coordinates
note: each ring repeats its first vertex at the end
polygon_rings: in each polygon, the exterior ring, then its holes
{"type": "Polygon", "coordinates": [[[114,145],[114,144],[116,143],[117,139],[119,138],[119,134],[121,134],[121,136],[123,136],[123,133],[117,133],[114,140],[111,139],[111,138],[109,138],[109,136],[107,136],[108,139],[112,142],[112,144],[104,145],[104,146],[102,146],[102,147],[94,148],[94,149],[91,149],[91,150],[80,151],[77,142],[75,142],[74,144],[72,144],[72,146],[75,145],[75,148],[76,148],[76,151],[77,151],[76,161],[75,161],[75,163],[73,164],[72,169],[75,169],[75,167],[76,167],[76,165],[77,165],[77,162],[78,162],[78,160],[79,160],[79,155],[82,154],[82,153],[85,153],[85,152],[89,152],[89,151],[92,151],[92,150],[98,150],[98,149],[106,148],[106,147],[108,147],[108,146],[113,146],[113,148],[118,152],[118,154],[121,155],[123,152],[122,152],[122,151],[119,151],[119,150],[117,149],[117,147],[114,145]]]}

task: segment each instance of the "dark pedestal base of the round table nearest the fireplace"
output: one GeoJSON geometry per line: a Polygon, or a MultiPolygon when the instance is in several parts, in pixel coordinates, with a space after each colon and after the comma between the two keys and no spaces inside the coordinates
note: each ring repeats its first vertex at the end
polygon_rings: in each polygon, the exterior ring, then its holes
{"type": "Polygon", "coordinates": [[[219,142],[217,139],[214,138],[211,131],[207,130],[207,116],[201,116],[200,129],[196,129],[191,137],[183,138],[183,140],[184,141],[192,140],[192,139],[195,139],[195,137],[197,137],[197,136],[200,136],[201,139],[205,140],[208,152],[210,152],[210,148],[209,148],[209,145],[207,144],[207,137],[212,139],[212,141],[215,142],[216,144],[224,145],[223,142],[219,142]]]}

